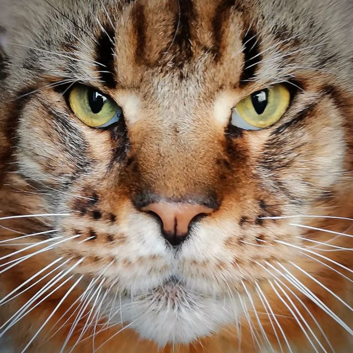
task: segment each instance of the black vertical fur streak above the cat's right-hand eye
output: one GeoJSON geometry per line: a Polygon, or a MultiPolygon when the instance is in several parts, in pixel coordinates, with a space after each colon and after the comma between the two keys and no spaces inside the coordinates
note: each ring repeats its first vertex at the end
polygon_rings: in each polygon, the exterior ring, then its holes
{"type": "Polygon", "coordinates": [[[247,80],[255,76],[257,66],[262,60],[259,54],[258,38],[253,30],[247,31],[243,37],[244,67],[240,77],[240,84],[244,85],[247,80]],[[256,57],[255,57],[256,56],[256,57]]]}

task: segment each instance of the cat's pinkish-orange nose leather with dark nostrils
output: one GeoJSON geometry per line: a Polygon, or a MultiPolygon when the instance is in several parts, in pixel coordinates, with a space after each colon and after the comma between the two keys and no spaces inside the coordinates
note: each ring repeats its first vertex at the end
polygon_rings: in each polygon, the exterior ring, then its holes
{"type": "Polygon", "coordinates": [[[163,237],[176,246],[186,239],[190,223],[195,217],[210,214],[215,209],[201,204],[156,202],[142,207],[141,210],[160,218],[163,237]]]}

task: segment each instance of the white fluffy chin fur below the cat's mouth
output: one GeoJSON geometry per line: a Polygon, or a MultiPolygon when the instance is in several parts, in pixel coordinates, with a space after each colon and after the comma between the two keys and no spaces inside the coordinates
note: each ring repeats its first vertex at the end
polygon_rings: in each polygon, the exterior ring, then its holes
{"type": "MultiPolygon", "coordinates": [[[[234,298],[204,297],[175,283],[149,294],[121,299],[121,318],[125,324],[161,347],[168,342],[187,343],[210,335],[226,324],[235,323],[239,316],[240,305],[234,298]]],[[[120,313],[112,319],[119,322],[120,313]]]]}

